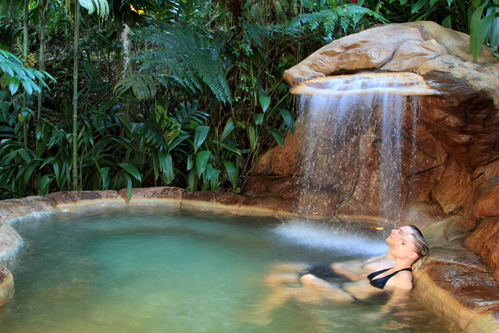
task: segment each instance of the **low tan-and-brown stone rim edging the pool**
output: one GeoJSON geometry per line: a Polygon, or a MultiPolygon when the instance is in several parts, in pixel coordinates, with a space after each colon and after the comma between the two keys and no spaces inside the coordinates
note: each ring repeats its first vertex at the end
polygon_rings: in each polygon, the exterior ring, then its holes
{"type": "MultiPolygon", "coordinates": [[[[296,216],[296,202],[286,198],[253,198],[216,191],[188,192],[175,187],[133,189],[130,200],[126,189],[56,192],[3,200],[0,201],[0,268],[7,266],[23,245],[22,238],[13,228],[16,223],[79,209],[134,205],[168,205],[255,217],[296,216]]],[[[485,262],[464,247],[469,232],[463,228],[461,220],[460,216],[451,217],[423,230],[431,252],[414,271],[415,296],[466,332],[499,332],[499,283],[492,278],[491,269],[485,262]]],[[[13,292],[13,282],[11,284],[13,292]]],[[[1,301],[0,295],[0,304],[1,301]]]]}

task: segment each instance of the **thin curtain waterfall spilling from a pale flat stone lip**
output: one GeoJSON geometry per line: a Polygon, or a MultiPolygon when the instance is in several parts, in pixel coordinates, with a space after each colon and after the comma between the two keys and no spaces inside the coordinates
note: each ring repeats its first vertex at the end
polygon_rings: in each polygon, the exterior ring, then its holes
{"type": "Polygon", "coordinates": [[[300,94],[305,138],[299,212],[334,217],[348,203],[397,220],[409,191],[403,167],[414,163],[418,95],[435,92],[417,74],[361,73],[309,80],[292,93],[300,94]]]}

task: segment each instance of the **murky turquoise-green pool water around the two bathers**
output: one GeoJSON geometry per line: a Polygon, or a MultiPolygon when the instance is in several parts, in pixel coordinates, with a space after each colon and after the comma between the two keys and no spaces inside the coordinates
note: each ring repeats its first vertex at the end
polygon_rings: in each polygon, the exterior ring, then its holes
{"type": "MultiPolygon", "coordinates": [[[[275,263],[318,263],[386,251],[384,234],[154,207],[65,213],[17,225],[1,332],[448,332],[412,300],[350,305],[290,300],[264,325],[259,304],[275,263]],[[410,311],[408,311],[410,310],[410,311]],[[255,322],[258,322],[256,324],[255,322]]],[[[348,228],[347,228],[348,229],[348,228]]]]}

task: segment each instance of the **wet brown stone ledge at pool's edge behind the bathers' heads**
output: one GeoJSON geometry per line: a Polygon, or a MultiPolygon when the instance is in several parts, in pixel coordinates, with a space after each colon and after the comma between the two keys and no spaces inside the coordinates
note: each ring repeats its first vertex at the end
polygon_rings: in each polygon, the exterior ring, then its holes
{"type": "Polygon", "coordinates": [[[422,304],[465,332],[499,332],[499,282],[464,241],[462,217],[434,222],[423,230],[430,254],[414,271],[414,293],[422,304]]]}

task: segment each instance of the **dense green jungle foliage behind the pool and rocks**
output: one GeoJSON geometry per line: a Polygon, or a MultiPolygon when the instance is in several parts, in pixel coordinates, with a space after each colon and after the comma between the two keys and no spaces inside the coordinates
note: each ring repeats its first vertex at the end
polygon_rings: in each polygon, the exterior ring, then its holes
{"type": "MultiPolygon", "coordinates": [[[[283,71],[374,25],[433,20],[498,52],[499,0],[1,0],[0,199],[238,192],[293,131],[283,71]]],[[[382,36],[380,36],[380,40],[382,36]]]]}

